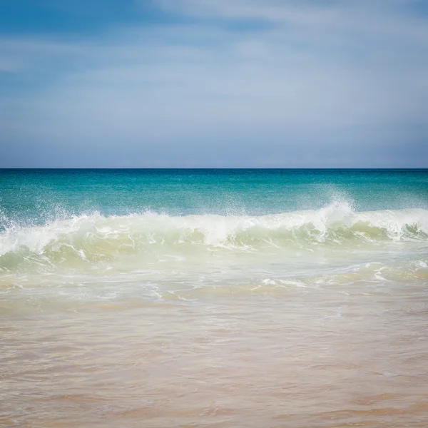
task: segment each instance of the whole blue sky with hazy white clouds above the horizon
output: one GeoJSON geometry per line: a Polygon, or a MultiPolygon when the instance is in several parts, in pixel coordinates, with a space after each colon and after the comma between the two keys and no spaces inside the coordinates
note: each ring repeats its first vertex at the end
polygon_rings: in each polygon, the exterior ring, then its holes
{"type": "Polygon", "coordinates": [[[427,0],[0,0],[0,168],[428,168],[427,0]]]}

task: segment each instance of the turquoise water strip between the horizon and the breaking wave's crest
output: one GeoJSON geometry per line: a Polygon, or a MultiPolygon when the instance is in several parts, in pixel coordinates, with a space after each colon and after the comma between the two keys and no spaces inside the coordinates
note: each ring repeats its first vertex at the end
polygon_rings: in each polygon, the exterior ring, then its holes
{"type": "Polygon", "coordinates": [[[0,170],[1,225],[70,215],[428,208],[427,170],[0,170]]]}

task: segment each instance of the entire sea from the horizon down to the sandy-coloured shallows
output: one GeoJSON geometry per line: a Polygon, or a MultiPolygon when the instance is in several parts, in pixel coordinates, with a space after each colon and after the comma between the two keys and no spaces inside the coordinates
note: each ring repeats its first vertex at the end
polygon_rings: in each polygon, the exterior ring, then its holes
{"type": "Polygon", "coordinates": [[[428,170],[0,170],[0,426],[426,427],[428,170]]]}

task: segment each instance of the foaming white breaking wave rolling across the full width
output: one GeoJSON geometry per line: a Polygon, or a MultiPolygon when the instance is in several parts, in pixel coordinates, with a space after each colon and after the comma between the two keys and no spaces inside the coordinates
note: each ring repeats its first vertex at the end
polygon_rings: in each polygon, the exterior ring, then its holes
{"type": "Polygon", "coordinates": [[[337,202],[321,210],[263,216],[143,213],[106,217],[99,213],[41,226],[11,226],[0,233],[0,268],[21,263],[54,266],[175,251],[379,245],[427,240],[428,210],[355,212],[337,202]]]}

